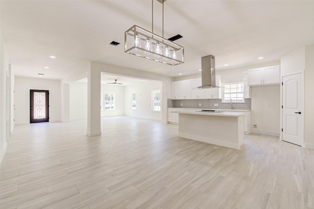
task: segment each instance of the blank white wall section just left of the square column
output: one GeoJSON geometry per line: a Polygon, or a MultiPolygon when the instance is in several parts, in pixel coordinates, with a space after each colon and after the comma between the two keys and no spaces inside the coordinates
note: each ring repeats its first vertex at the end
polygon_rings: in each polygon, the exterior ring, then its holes
{"type": "Polygon", "coordinates": [[[87,83],[70,84],[70,120],[87,119],[87,83]]]}

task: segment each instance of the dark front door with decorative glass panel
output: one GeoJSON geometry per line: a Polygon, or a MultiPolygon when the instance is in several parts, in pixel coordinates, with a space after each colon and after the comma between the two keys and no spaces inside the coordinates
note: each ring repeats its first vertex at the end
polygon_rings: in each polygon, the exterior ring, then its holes
{"type": "Polygon", "coordinates": [[[30,123],[49,122],[49,91],[30,90],[30,123]]]}

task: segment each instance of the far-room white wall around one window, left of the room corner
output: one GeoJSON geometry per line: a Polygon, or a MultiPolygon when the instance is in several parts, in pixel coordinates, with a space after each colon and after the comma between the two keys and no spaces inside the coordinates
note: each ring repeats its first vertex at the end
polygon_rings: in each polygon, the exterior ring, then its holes
{"type": "Polygon", "coordinates": [[[101,85],[101,92],[103,92],[103,99],[105,99],[105,92],[115,93],[115,109],[114,110],[102,110],[101,117],[114,117],[124,116],[125,106],[125,87],[117,85],[101,85]]]}

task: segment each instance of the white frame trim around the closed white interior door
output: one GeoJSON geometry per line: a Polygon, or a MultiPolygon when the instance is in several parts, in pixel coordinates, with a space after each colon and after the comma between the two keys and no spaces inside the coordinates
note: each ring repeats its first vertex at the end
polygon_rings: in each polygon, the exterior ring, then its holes
{"type": "MultiPolygon", "coordinates": [[[[290,73],[287,73],[287,74],[283,74],[283,75],[280,75],[280,107],[282,107],[283,105],[283,77],[285,76],[288,76],[288,75],[294,75],[294,74],[299,74],[301,73],[301,83],[303,85],[301,85],[301,95],[302,95],[302,98],[303,98],[303,101],[304,101],[304,70],[300,70],[300,71],[295,71],[295,72],[290,72],[290,73]]],[[[304,111],[304,103],[303,102],[303,105],[302,105],[302,112],[303,112],[303,129],[302,129],[302,137],[303,137],[303,141],[302,141],[302,144],[301,146],[304,147],[305,146],[305,143],[304,143],[304,115],[305,115],[305,111],[304,111]]],[[[283,129],[283,108],[280,108],[280,129],[282,130],[283,129]]],[[[280,130],[280,136],[279,136],[279,139],[282,141],[283,140],[283,132],[280,130]]]]}

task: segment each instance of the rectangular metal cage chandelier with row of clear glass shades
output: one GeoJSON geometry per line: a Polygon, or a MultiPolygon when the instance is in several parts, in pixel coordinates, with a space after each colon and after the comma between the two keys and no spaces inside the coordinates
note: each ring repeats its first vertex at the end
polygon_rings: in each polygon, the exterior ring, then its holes
{"type": "Polygon", "coordinates": [[[184,62],[183,46],[137,25],[125,32],[125,52],[172,66],[184,62]]]}

